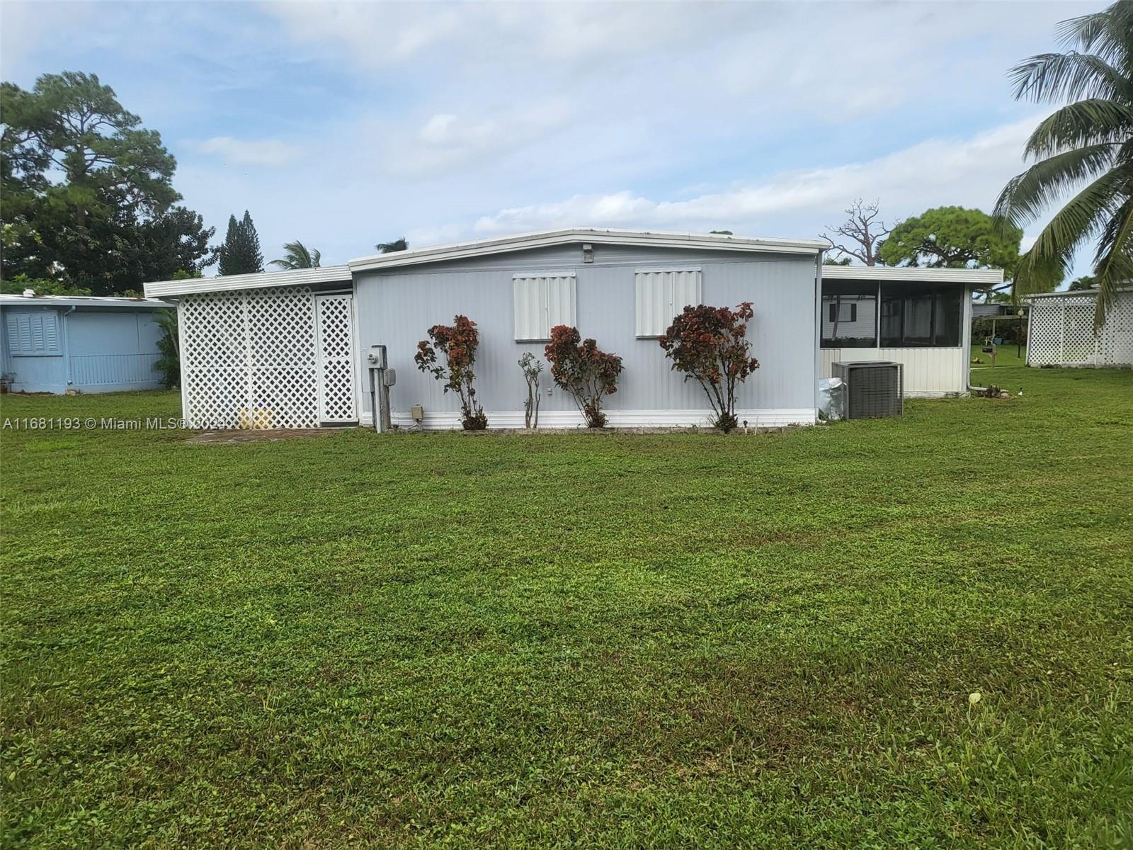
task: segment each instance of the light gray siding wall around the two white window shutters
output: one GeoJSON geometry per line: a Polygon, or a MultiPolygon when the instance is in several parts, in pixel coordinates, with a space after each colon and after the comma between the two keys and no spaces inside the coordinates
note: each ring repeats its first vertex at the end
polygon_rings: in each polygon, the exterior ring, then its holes
{"type": "MultiPolygon", "coordinates": [[[[521,410],[526,394],[517,360],[531,351],[544,362],[542,342],[516,342],[512,274],[570,270],[577,275],[578,329],[598,347],[617,354],[624,372],[617,392],[606,397],[610,410],[699,410],[702,390],[672,372],[656,339],[634,338],[636,269],[696,265],[701,269],[702,300],[734,306],[749,300],[749,325],[760,368],[741,389],[739,409],[813,409],[816,372],[815,258],[806,255],[649,249],[596,245],[593,263],[581,262],[579,246],[435,263],[356,275],[359,345],[386,346],[398,383],[391,391],[395,413],[420,403],[426,411],[457,411],[432,375],[417,371],[414,352],[429,326],[449,324],[462,313],[480,331],[476,358],[480,403],[491,411],[521,410]]],[[[368,386],[368,383],[366,384],[368,386]]],[[[574,403],[543,376],[543,410],[574,410],[574,403]]],[[[364,409],[369,411],[368,393],[364,409]]]]}

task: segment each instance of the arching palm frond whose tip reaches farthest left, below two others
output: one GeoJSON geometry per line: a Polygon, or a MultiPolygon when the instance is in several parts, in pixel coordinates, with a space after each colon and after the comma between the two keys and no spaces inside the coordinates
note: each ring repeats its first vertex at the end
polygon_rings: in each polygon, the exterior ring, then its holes
{"type": "Polygon", "coordinates": [[[996,199],[993,214],[1014,227],[1025,227],[1064,193],[1109,170],[1114,159],[1114,147],[1102,144],[1040,160],[1007,181],[996,199]]]}

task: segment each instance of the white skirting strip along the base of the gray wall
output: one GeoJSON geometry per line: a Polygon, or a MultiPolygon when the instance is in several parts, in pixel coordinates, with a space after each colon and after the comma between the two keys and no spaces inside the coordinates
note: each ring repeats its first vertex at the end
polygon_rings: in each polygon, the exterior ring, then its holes
{"type": "MultiPolygon", "coordinates": [[[[614,428],[674,428],[674,427],[709,427],[712,411],[709,410],[606,410],[606,422],[614,428]]],[[[770,408],[766,410],[736,410],[740,426],[747,420],[748,427],[783,427],[785,425],[813,425],[818,416],[813,408],[770,408]]],[[[522,410],[488,410],[489,428],[523,427],[522,410]]],[[[460,414],[454,411],[425,413],[425,420],[417,425],[406,411],[394,410],[391,415],[394,425],[402,428],[420,427],[425,431],[452,431],[460,428],[460,414]]],[[[369,414],[363,415],[363,425],[373,426],[369,414]]],[[[582,414],[577,410],[540,410],[540,428],[581,428],[585,423],[582,414]]]]}

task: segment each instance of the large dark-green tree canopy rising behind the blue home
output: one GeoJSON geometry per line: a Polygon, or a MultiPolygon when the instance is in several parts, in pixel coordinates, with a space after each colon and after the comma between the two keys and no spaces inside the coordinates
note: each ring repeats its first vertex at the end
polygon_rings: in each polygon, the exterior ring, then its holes
{"type": "Polygon", "coordinates": [[[213,262],[212,228],[173,206],[173,156],[93,74],[0,84],[6,278],[54,280],[95,295],[213,262]]]}

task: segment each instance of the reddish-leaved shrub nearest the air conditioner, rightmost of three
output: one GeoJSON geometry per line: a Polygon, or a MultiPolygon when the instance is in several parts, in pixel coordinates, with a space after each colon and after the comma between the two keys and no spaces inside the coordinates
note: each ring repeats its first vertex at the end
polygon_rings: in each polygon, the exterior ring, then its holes
{"type": "Polygon", "coordinates": [[[727,432],[735,427],[735,386],[759,368],[748,342],[751,303],[727,307],[705,304],[685,307],[661,338],[673,368],[695,379],[715,414],[713,425],[727,432]]]}

